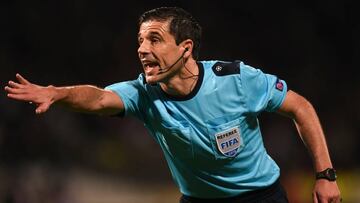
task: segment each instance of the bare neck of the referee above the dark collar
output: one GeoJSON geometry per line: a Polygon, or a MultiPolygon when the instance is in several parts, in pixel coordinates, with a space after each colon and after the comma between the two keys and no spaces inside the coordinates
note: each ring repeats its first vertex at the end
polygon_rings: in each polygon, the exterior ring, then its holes
{"type": "Polygon", "coordinates": [[[188,60],[168,81],[161,82],[160,86],[161,89],[169,95],[185,96],[190,94],[194,89],[198,78],[199,67],[196,61],[191,59],[188,60]]]}

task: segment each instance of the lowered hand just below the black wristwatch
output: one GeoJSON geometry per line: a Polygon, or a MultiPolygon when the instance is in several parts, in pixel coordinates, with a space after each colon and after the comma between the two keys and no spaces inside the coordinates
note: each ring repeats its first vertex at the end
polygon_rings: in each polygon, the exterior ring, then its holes
{"type": "Polygon", "coordinates": [[[336,181],[328,181],[325,179],[316,181],[313,191],[314,203],[340,203],[341,201],[340,190],[336,181]]]}

